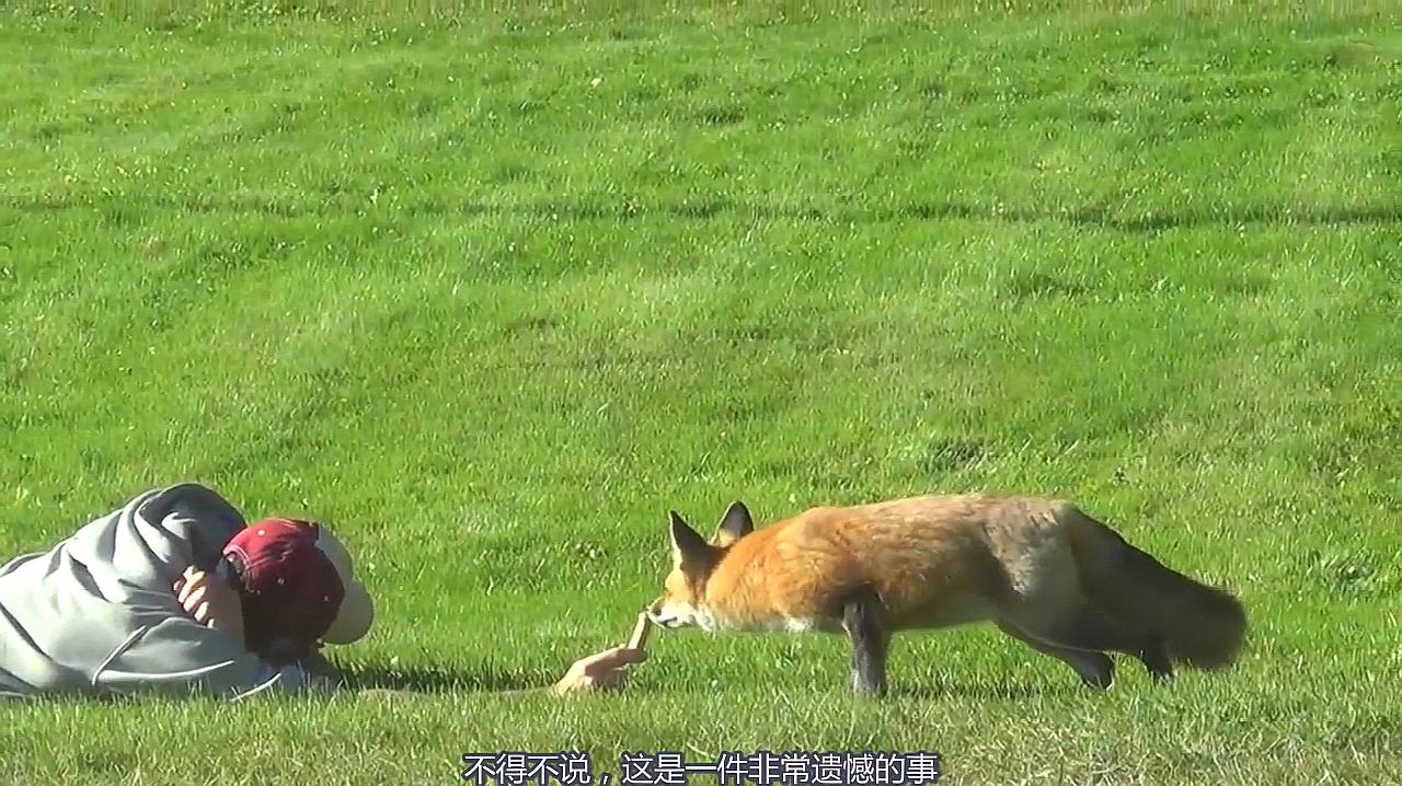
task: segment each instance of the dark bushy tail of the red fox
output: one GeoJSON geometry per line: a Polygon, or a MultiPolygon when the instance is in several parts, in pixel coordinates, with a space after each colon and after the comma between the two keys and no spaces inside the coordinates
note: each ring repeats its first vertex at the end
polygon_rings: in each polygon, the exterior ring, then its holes
{"type": "Polygon", "coordinates": [[[1077,511],[1070,521],[1081,586],[1116,616],[1148,625],[1175,661],[1225,668],[1246,643],[1246,611],[1231,593],[1209,587],[1134,548],[1115,530],[1077,511]]]}

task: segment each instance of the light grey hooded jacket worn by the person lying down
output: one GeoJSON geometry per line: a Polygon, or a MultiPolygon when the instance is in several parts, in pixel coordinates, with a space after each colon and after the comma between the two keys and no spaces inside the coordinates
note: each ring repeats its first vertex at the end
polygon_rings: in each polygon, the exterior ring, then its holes
{"type": "Polygon", "coordinates": [[[196,694],[301,688],[181,608],[172,584],[213,570],[245,525],[210,489],[147,492],[48,552],[0,567],[0,696],[196,694]]]}

